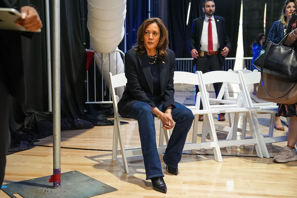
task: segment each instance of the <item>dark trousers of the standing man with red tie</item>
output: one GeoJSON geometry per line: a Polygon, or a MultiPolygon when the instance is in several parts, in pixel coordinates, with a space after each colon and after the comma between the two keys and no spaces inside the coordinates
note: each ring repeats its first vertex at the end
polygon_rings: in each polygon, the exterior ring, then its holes
{"type": "MultiPolygon", "coordinates": [[[[219,55],[204,55],[203,57],[199,56],[197,60],[194,60],[194,63],[196,61],[196,71],[202,71],[202,73],[206,73],[208,71],[221,71],[222,70],[222,64],[219,60],[219,55]]],[[[219,94],[219,91],[222,87],[223,83],[214,83],[214,91],[216,93],[216,97],[219,94]]],[[[197,93],[199,92],[199,88],[196,85],[195,86],[195,97],[197,93]]],[[[224,99],[224,96],[223,98],[224,99]]],[[[202,102],[200,101],[200,109],[203,109],[202,102]]],[[[225,115],[225,113],[222,113],[222,115],[225,115]]]]}

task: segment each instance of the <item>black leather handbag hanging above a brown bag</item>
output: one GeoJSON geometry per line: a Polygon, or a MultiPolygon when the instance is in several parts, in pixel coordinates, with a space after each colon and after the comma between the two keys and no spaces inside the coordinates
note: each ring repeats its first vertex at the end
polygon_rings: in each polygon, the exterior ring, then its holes
{"type": "Polygon", "coordinates": [[[254,65],[261,72],[288,82],[297,82],[297,53],[296,42],[294,47],[281,45],[289,36],[287,34],[278,44],[267,41],[254,65]]]}

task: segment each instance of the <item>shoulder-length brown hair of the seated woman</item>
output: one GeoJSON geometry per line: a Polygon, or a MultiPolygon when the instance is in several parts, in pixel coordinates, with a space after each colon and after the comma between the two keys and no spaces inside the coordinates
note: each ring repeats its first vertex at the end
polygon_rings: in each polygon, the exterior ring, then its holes
{"type": "Polygon", "coordinates": [[[143,36],[146,31],[147,26],[152,23],[156,23],[160,28],[160,39],[159,43],[156,46],[158,50],[158,55],[161,59],[164,59],[167,56],[168,49],[168,31],[165,27],[164,23],[159,18],[148,18],[143,21],[137,31],[137,42],[132,46],[132,49],[136,51],[137,54],[141,55],[146,51],[146,47],[144,45],[143,36]]]}

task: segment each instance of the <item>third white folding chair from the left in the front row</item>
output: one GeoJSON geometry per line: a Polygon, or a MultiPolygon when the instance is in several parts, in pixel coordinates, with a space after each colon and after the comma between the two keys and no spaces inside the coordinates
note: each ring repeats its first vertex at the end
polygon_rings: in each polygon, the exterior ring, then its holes
{"type": "MultiPolygon", "coordinates": [[[[243,86],[242,80],[240,80],[239,73],[242,73],[242,72],[238,71],[237,73],[233,73],[233,72],[226,72],[226,71],[213,71],[213,72],[207,72],[203,74],[201,71],[197,71],[196,74],[198,74],[198,77],[199,77],[199,83],[200,83],[199,91],[201,91],[203,109],[219,110],[220,113],[235,113],[235,118],[232,123],[232,126],[229,127],[230,131],[232,131],[232,134],[233,134],[232,139],[219,140],[219,146],[225,147],[225,146],[254,144],[256,148],[257,156],[269,157],[265,142],[263,140],[262,133],[259,129],[255,128],[255,126],[257,126],[258,124],[258,121],[254,117],[254,112],[260,108],[247,106],[248,99],[246,96],[245,87],[243,86]],[[206,91],[206,85],[219,83],[219,82],[234,83],[239,85],[241,91],[239,91],[238,93],[236,104],[223,104],[223,105],[209,104],[209,96],[206,91]],[[247,119],[249,121],[249,125],[251,126],[250,130],[252,132],[252,139],[236,140],[236,134],[238,131],[239,113],[246,113],[247,119]]],[[[218,102],[226,103],[227,101],[221,100],[218,102]]],[[[227,130],[225,128],[228,128],[228,127],[223,127],[222,129],[227,130]]],[[[205,132],[205,126],[203,124],[202,139],[201,139],[202,142],[206,140],[206,135],[207,135],[207,132],[205,132]]]]}

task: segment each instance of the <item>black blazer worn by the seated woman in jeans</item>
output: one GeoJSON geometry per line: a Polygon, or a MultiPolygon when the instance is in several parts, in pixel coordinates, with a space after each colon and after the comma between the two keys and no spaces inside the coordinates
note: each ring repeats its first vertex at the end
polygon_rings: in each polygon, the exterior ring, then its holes
{"type": "MultiPolygon", "coordinates": [[[[175,66],[175,53],[167,50],[168,55],[165,59],[159,59],[160,90],[161,95],[158,101],[163,104],[163,109],[168,105],[174,104],[173,75],[175,66]]],[[[119,113],[125,117],[133,104],[137,101],[146,102],[155,107],[153,98],[153,78],[151,75],[150,64],[144,62],[147,53],[136,54],[135,50],[125,53],[125,76],[127,84],[122,98],[118,103],[119,113]]]]}

